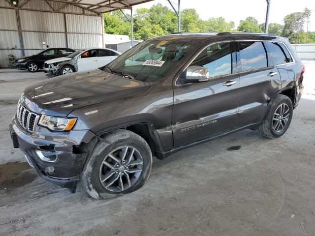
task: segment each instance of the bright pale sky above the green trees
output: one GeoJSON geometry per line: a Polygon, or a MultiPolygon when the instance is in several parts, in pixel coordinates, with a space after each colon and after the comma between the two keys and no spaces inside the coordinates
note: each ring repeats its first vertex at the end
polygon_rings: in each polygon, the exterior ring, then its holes
{"type": "MultiPolygon", "coordinates": [[[[171,0],[177,8],[177,0],[171,0]]],[[[146,7],[161,3],[171,8],[167,0],[153,0],[133,6],[133,9],[146,7]]],[[[269,23],[284,24],[284,16],[295,11],[303,11],[307,7],[312,10],[309,30],[315,31],[315,0],[271,0],[269,11],[269,23]]],[[[266,18],[267,3],[266,0],[181,0],[181,9],[195,8],[202,20],[211,17],[225,18],[226,21],[234,21],[237,27],[240,20],[248,16],[253,16],[258,23],[264,23],[266,18]]],[[[306,31],[306,24],[305,24],[306,31]]]]}

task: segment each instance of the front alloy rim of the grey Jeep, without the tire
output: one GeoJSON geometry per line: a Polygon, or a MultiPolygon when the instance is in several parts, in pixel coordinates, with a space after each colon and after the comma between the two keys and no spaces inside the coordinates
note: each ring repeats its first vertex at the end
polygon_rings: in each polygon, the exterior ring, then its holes
{"type": "Polygon", "coordinates": [[[142,156],[131,146],[115,149],[102,161],[99,180],[111,192],[121,192],[131,187],[142,172],[142,156]]]}

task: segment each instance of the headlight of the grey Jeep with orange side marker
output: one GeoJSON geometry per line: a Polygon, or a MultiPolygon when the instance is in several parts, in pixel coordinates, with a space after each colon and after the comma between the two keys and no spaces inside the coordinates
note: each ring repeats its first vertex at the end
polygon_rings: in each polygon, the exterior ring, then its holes
{"type": "Polygon", "coordinates": [[[38,124],[53,131],[68,131],[73,128],[77,118],[50,117],[41,115],[38,124]]]}

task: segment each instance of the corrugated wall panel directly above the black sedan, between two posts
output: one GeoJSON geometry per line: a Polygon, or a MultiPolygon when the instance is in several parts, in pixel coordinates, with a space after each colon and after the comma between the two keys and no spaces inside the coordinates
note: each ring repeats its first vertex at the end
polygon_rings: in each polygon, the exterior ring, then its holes
{"type": "Polygon", "coordinates": [[[50,48],[66,47],[64,33],[22,32],[25,49],[41,49],[42,42],[50,48]]]}

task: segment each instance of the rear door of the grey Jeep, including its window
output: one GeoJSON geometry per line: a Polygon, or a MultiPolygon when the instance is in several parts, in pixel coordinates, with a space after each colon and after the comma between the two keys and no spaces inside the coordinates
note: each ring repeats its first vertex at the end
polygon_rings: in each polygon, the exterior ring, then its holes
{"type": "Polygon", "coordinates": [[[281,88],[276,66],[268,60],[263,41],[238,41],[238,71],[240,75],[239,126],[262,121],[267,105],[281,88]]]}

